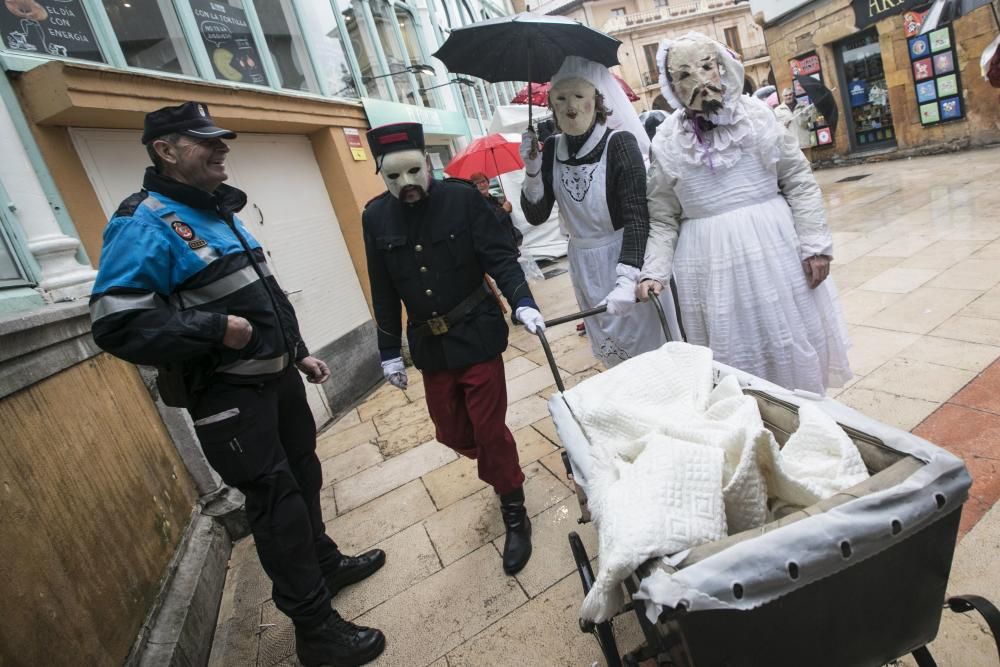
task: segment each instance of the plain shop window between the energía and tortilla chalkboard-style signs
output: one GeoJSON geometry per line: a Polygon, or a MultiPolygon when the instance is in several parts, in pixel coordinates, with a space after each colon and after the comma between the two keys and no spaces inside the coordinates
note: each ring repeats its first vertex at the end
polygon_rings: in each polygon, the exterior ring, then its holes
{"type": "Polygon", "coordinates": [[[104,10],[131,67],[198,75],[169,0],[104,0],[104,10]]]}

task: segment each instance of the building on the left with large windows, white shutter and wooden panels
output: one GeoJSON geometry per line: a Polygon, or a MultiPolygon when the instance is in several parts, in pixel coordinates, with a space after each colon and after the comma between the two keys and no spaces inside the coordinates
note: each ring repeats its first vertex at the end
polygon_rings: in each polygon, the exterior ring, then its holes
{"type": "MultiPolygon", "coordinates": [[[[147,372],[102,353],[90,335],[103,229],[140,189],[148,164],[144,115],[198,100],[240,133],[229,182],[249,195],[241,219],[295,305],[310,350],[333,371],[326,385],[307,386],[322,425],[382,377],[361,211],[384,186],[364,132],[422,122],[439,167],[483,134],[516,84],[455,83],[430,54],[451,29],[507,13],[505,0],[0,6],[0,479],[8,491],[0,543],[10,573],[0,595],[18,610],[0,628],[0,663],[135,659],[171,581],[165,575],[191,552],[192,536],[228,544],[218,530],[198,528],[219,479],[186,414],[163,405],[147,372]]],[[[209,561],[224,571],[225,557],[209,561]]],[[[221,592],[223,571],[195,580],[217,581],[221,592]]],[[[198,627],[211,633],[204,620],[198,627]]]]}

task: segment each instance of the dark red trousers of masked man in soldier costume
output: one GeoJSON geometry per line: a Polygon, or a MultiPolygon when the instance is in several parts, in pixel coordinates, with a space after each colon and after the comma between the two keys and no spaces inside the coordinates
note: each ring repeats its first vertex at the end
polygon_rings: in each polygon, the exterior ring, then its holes
{"type": "Polygon", "coordinates": [[[479,479],[498,494],[524,483],[517,445],[507,428],[507,378],[503,359],[443,371],[424,372],[427,411],[438,442],[476,459],[479,479]]]}

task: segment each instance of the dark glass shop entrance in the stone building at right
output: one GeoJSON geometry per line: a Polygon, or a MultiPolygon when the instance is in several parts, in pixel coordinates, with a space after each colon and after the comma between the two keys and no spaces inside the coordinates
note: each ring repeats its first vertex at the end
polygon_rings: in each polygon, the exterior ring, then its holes
{"type": "Polygon", "coordinates": [[[851,144],[856,150],[894,146],[889,88],[878,34],[869,30],[837,45],[851,144]]]}

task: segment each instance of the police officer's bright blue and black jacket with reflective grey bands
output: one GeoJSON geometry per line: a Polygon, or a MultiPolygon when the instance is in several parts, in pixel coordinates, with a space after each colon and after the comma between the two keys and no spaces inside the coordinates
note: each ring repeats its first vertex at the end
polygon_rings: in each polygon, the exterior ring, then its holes
{"type": "Polygon", "coordinates": [[[307,356],[292,305],[234,215],[245,204],[236,188],[208,194],[148,170],[104,230],[90,298],[97,344],[202,382],[260,382],[307,356]],[[222,345],[227,315],[253,326],[242,350],[222,345]]]}

